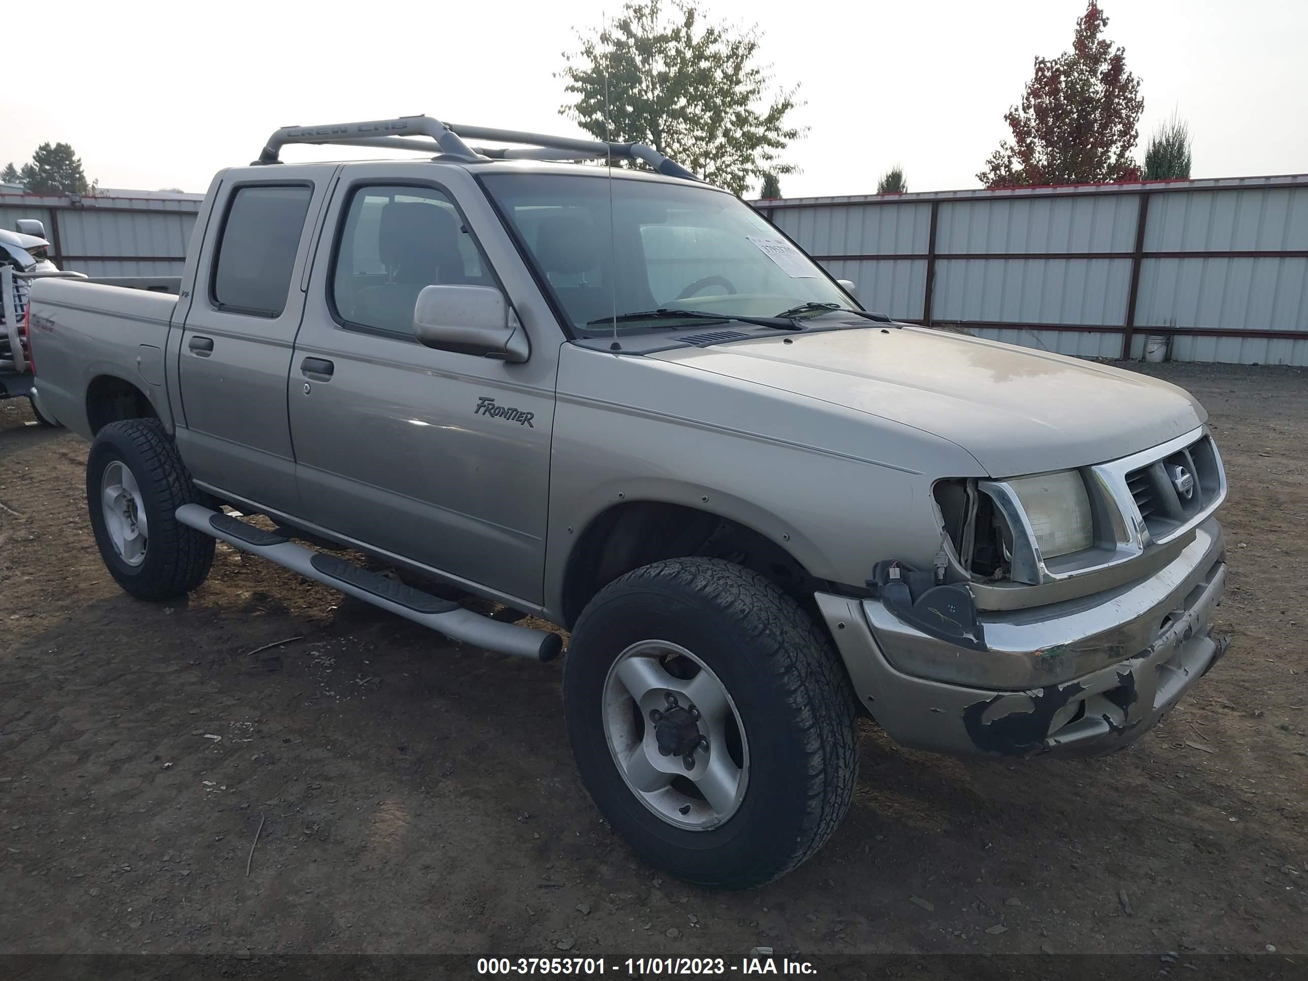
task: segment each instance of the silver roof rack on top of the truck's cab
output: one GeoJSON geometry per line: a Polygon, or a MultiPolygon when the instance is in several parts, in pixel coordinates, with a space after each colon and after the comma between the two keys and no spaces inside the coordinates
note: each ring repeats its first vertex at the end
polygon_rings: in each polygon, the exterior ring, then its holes
{"type": "Polygon", "coordinates": [[[267,145],[259,153],[255,165],[280,164],[281,148],[290,143],[324,145],[343,144],[347,146],[375,146],[391,150],[417,150],[430,153],[433,149],[446,160],[485,161],[485,160],[640,160],[666,177],[679,177],[684,181],[698,181],[674,160],[664,157],[653,146],[641,143],[602,143],[598,140],[574,140],[568,136],[545,136],[518,129],[496,129],[487,126],[456,126],[442,123],[432,116],[399,116],[398,119],[375,119],[366,123],[331,123],[327,126],[284,126],[268,137],[267,145]],[[470,140],[490,140],[513,144],[511,146],[470,146],[470,140]]]}

